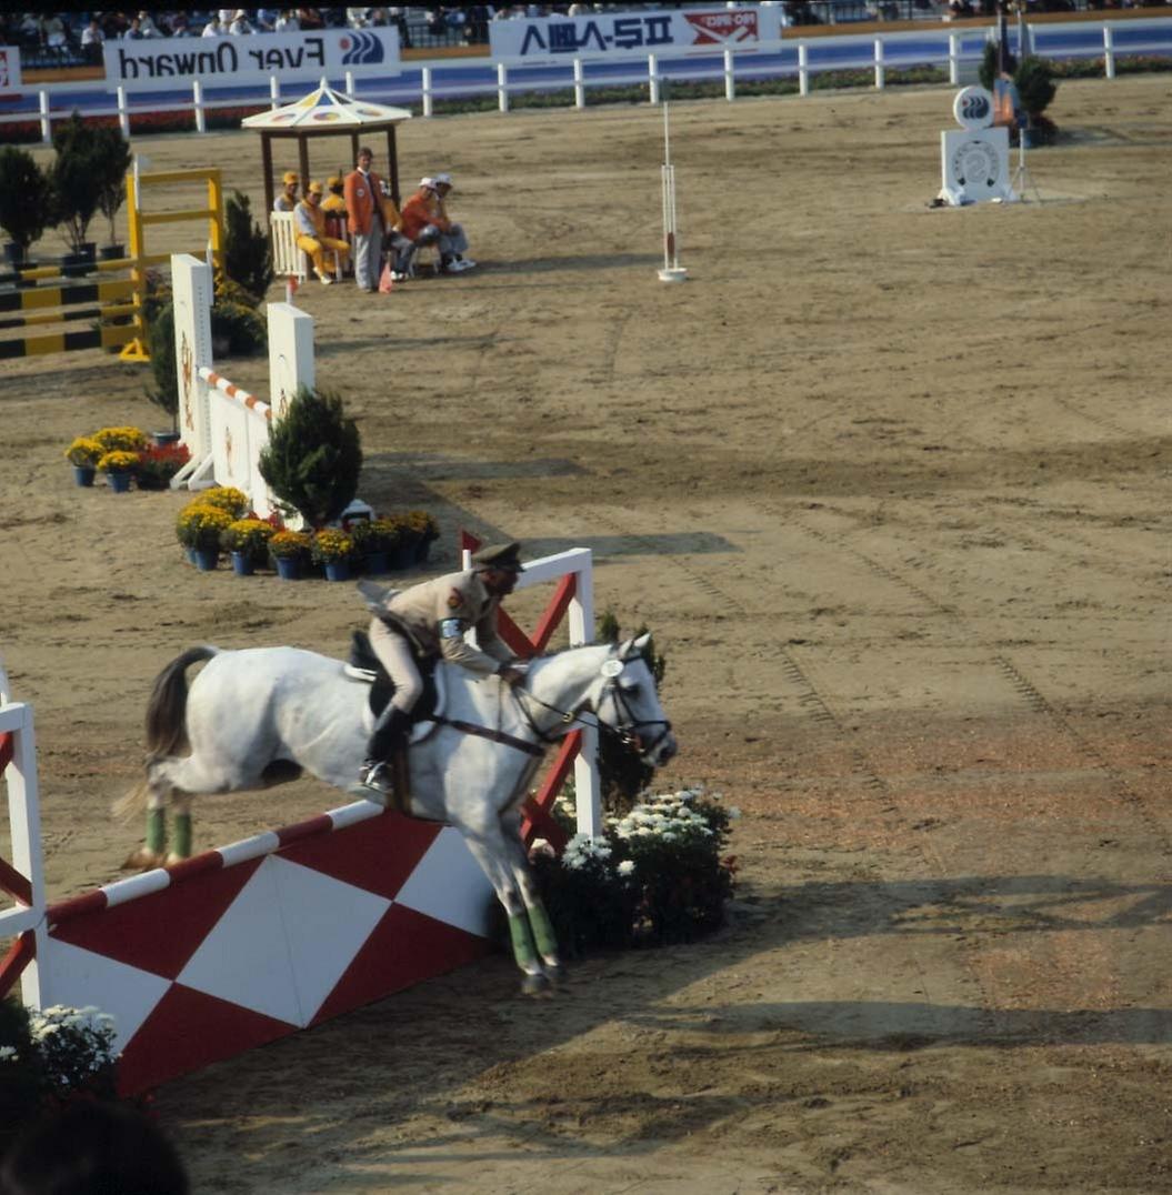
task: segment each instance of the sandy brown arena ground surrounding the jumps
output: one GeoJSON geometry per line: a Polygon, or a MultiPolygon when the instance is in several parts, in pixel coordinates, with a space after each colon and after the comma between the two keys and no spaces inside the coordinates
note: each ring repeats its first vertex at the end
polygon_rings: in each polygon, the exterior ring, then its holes
{"type": "MultiPolygon", "coordinates": [[[[594,550],[599,609],[667,655],[664,783],[744,810],[740,883],[715,938],[555,1001],[494,957],[167,1085],[196,1190],[1170,1188],[1172,79],[1063,82],[1052,115],[1045,203],[930,210],[947,90],[679,105],[683,287],[659,112],[404,129],[482,266],[301,292],[361,494],[434,510],[439,568],[460,526],[594,550]]],[[[139,148],[262,203],[249,135],[139,148]]],[[[178,494],[73,486],[74,435],[160,424],[145,370],[2,376],[0,650],[61,897],[136,841],[108,808],[167,660],[341,654],[362,613],[197,575],[178,494]]],[[[203,799],[196,846],[336,803],[203,799]]]]}

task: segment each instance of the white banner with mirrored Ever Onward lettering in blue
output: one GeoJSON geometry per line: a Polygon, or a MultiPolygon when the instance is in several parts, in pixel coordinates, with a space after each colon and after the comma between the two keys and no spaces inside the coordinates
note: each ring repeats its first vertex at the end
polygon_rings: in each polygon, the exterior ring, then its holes
{"type": "Polygon", "coordinates": [[[205,86],[283,84],[399,73],[398,30],[328,29],[243,37],[163,37],[105,43],[106,87],[160,91],[199,79],[205,86]]]}

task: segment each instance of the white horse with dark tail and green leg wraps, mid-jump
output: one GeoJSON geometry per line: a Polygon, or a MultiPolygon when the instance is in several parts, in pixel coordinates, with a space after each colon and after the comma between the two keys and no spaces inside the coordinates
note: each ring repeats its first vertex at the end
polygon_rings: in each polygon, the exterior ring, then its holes
{"type": "MultiPolygon", "coordinates": [[[[524,687],[477,680],[445,662],[442,716],[408,753],[410,809],[446,821],[468,842],[508,914],[527,991],[556,976],[557,943],[520,839],[520,804],[545,748],[586,713],[645,762],[676,754],[676,739],[642,657],[649,636],[621,646],[573,648],[529,664],[524,687]],[[536,944],[536,950],[535,950],[536,944]]],[[[191,853],[190,798],[262,789],[301,771],[354,796],[373,725],[370,684],[337,660],[298,648],[190,648],[158,675],[147,706],[147,778],[121,811],[148,807],[147,842],[132,866],[164,862],[167,798],[175,852],[191,853]],[[208,661],[191,682],[187,669],[208,661]],[[188,754],[183,754],[188,752],[188,754]]]]}

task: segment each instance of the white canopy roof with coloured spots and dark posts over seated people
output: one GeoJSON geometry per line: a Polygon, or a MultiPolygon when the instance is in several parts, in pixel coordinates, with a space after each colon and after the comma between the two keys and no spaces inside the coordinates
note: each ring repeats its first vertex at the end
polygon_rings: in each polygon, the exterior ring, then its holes
{"type": "MultiPolygon", "coordinates": [[[[365,99],[355,99],[343,92],[334,91],[323,79],[317,91],[310,92],[303,99],[285,104],[269,112],[257,112],[245,117],[240,124],[245,129],[256,129],[261,134],[261,158],[264,165],[264,207],[273,210],[276,197],[276,185],[273,177],[273,141],[297,140],[298,165],[301,176],[301,191],[309,186],[310,179],[310,137],[349,136],[350,161],[358,161],[360,141],[371,133],[386,133],[387,182],[395,206],[401,206],[398,185],[398,152],[395,141],[395,128],[403,121],[409,121],[411,114],[405,108],[390,108],[386,104],[374,104],[365,99]]],[[[376,167],[378,161],[376,160],[376,167]]],[[[332,168],[330,173],[332,173],[332,168]]]]}

